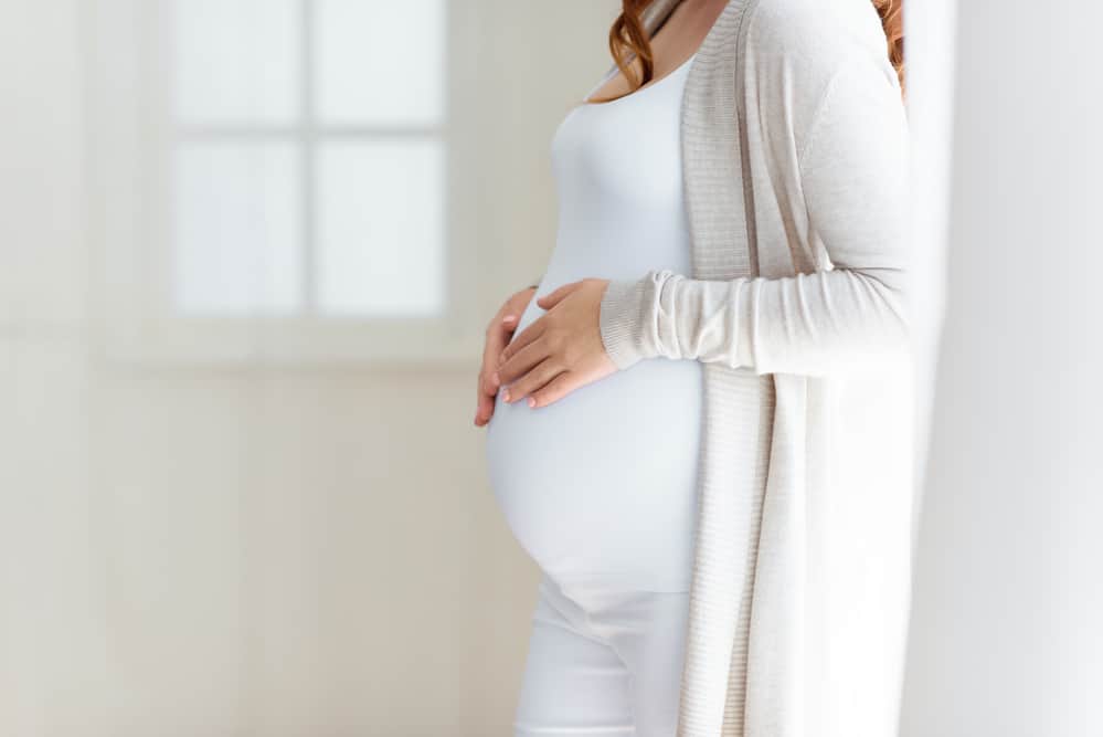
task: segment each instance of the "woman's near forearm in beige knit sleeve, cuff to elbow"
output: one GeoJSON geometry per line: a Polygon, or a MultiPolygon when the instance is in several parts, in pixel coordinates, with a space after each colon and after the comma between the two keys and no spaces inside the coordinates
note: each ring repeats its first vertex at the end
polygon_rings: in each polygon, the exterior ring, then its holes
{"type": "Polygon", "coordinates": [[[847,371],[906,350],[892,281],[850,270],[731,281],[651,271],[609,283],[602,339],[622,369],[661,357],[757,373],[847,371]]]}

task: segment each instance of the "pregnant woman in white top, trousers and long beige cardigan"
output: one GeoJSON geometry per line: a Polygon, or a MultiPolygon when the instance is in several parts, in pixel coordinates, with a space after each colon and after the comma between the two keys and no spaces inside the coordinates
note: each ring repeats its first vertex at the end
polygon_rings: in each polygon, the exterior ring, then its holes
{"type": "Polygon", "coordinates": [[[899,0],[624,0],[476,424],[517,735],[885,737],[909,603],[899,0]]]}

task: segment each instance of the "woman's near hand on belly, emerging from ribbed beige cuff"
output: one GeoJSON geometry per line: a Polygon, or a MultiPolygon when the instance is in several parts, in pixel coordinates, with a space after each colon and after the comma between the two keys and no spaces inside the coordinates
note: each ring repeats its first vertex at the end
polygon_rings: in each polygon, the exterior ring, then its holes
{"type": "Polygon", "coordinates": [[[605,352],[598,317],[608,281],[584,278],[564,284],[537,299],[548,310],[502,351],[498,367],[507,402],[529,398],[544,407],[615,372],[605,352]]]}

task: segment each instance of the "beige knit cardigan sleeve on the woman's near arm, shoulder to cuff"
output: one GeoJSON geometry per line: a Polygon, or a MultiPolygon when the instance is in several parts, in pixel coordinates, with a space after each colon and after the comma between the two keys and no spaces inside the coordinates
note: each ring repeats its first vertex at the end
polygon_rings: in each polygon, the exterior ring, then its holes
{"type": "Polygon", "coordinates": [[[796,170],[809,236],[824,244],[826,267],[730,281],[656,270],[613,281],[600,328],[618,368],[665,357],[824,375],[906,350],[908,131],[900,87],[885,65],[853,57],[830,77],[809,120],[796,170]]]}

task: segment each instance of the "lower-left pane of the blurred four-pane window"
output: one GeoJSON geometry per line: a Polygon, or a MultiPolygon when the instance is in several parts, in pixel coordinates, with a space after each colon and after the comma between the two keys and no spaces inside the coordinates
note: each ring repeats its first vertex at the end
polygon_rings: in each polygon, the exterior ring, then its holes
{"type": "Polygon", "coordinates": [[[284,143],[177,149],[173,282],[189,314],[280,314],[303,302],[299,158],[284,143]]]}

